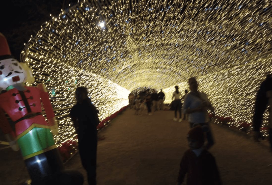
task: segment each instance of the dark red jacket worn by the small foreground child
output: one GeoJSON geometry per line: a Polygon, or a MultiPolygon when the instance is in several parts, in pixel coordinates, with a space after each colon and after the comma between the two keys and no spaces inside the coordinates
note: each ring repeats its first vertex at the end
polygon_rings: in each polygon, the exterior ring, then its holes
{"type": "Polygon", "coordinates": [[[220,175],[214,157],[207,150],[200,156],[187,150],[180,162],[178,183],[182,183],[187,173],[187,185],[221,185],[220,175]]]}

